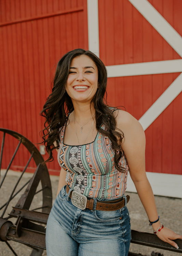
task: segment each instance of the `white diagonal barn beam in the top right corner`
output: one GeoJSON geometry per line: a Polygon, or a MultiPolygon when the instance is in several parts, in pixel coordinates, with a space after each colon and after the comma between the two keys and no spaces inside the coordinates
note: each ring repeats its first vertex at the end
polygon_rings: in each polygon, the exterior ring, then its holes
{"type": "Polygon", "coordinates": [[[156,31],[182,57],[182,37],[147,0],[129,0],[156,31]]]}

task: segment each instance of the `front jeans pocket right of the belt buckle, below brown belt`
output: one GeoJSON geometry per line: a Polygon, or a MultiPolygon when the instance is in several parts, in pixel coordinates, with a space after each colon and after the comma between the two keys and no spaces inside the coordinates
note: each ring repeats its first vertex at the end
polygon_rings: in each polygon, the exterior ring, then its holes
{"type": "Polygon", "coordinates": [[[121,220],[122,214],[120,213],[120,210],[115,210],[115,211],[95,210],[94,216],[98,221],[111,222],[111,221],[117,221],[119,219],[121,220]]]}

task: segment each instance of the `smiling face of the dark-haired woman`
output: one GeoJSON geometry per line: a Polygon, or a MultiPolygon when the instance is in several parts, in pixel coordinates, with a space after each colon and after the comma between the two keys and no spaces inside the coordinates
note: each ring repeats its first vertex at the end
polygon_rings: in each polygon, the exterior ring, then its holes
{"type": "Polygon", "coordinates": [[[91,102],[98,88],[98,69],[95,62],[86,55],[71,61],[66,91],[72,103],[91,102]]]}

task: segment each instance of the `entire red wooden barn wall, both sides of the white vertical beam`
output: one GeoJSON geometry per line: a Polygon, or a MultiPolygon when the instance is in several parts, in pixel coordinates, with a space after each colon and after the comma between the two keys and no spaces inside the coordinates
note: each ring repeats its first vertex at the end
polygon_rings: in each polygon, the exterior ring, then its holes
{"type": "MultiPolygon", "coordinates": [[[[149,2],[182,35],[182,2],[149,2]]],[[[88,49],[87,1],[2,0],[1,10],[0,126],[36,144],[44,121],[39,113],[58,60],[71,49],[88,49]]],[[[181,59],[128,0],[98,0],[98,16],[99,54],[105,65],[181,59]]],[[[109,78],[108,102],[140,119],[179,74],[109,78]]],[[[182,93],[145,131],[149,172],[182,174],[181,102],[182,93]]],[[[16,147],[14,141],[11,146],[16,147]]],[[[2,167],[11,155],[11,150],[4,154],[2,167]]],[[[15,165],[23,168],[23,159],[15,165]]],[[[57,161],[48,168],[58,171],[57,161]]]]}

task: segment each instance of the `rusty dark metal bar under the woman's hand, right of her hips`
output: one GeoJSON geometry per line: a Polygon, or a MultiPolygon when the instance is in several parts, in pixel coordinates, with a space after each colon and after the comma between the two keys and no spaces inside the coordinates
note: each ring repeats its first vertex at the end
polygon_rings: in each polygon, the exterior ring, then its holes
{"type": "Polygon", "coordinates": [[[151,233],[131,230],[131,237],[132,237],[131,243],[134,243],[134,244],[140,244],[140,245],[155,247],[155,248],[172,251],[172,252],[176,252],[176,253],[182,253],[182,240],[181,239],[174,240],[179,246],[179,249],[176,249],[173,246],[171,246],[170,244],[160,240],[156,235],[151,234],[151,233]]]}

